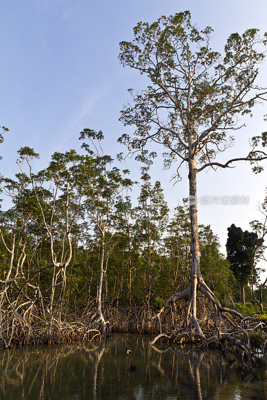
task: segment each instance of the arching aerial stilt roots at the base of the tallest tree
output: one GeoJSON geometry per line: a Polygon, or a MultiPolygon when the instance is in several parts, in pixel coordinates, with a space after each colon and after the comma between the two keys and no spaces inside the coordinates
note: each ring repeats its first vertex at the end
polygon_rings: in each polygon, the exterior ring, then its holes
{"type": "Polygon", "coordinates": [[[151,345],[159,342],[165,342],[168,345],[190,343],[193,347],[213,346],[221,349],[229,345],[235,352],[241,353],[242,358],[246,356],[252,361],[256,361],[258,351],[264,354],[264,350],[267,347],[267,326],[255,317],[244,317],[233,309],[223,307],[201,276],[198,278],[197,275],[194,275],[189,286],[183,291],[170,296],[164,306],[151,319],[157,318],[160,324],[161,313],[167,310],[168,307],[173,309],[175,301],[181,299],[187,300],[183,327],[179,329],[177,323],[175,323],[173,324],[175,328],[171,332],[162,332],[160,329],[160,334],[151,341],[151,345]],[[210,301],[208,315],[199,320],[196,317],[197,289],[210,301]],[[212,314],[214,314],[214,320],[211,320],[212,314]],[[209,324],[212,325],[212,329],[209,328],[209,324]],[[202,331],[202,329],[204,330],[202,331]],[[250,343],[250,335],[254,333],[261,337],[262,345],[250,343]]]}

